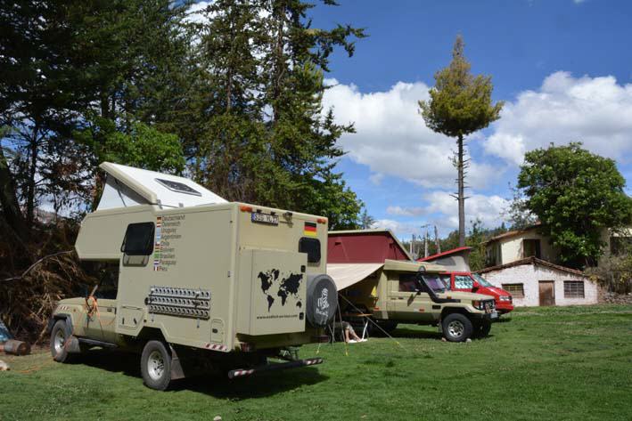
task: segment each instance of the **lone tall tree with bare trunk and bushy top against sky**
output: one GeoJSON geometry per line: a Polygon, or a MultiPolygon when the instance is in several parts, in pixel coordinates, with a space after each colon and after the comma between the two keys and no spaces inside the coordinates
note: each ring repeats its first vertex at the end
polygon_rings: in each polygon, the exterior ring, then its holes
{"type": "Polygon", "coordinates": [[[425,124],[431,130],[456,138],[456,157],[453,164],[458,175],[459,246],[465,245],[465,170],[469,159],[464,158],[464,137],[487,127],[500,117],[503,102],[492,104],[491,77],[476,76],[464,57],[464,41],[456,36],[452,61],[435,74],[436,84],[430,90],[430,101],[419,101],[425,124]]]}

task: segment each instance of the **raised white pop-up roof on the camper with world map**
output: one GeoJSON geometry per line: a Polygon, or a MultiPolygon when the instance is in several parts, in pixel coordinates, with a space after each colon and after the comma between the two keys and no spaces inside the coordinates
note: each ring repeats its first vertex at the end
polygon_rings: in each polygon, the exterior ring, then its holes
{"type": "Polygon", "coordinates": [[[136,205],[187,207],[226,203],[200,184],[176,175],[103,162],[107,174],[97,210],[136,205]]]}

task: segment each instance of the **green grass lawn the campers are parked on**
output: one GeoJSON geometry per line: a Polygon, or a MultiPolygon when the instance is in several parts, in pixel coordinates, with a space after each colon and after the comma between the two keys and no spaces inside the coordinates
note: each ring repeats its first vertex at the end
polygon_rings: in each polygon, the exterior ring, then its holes
{"type": "MultiPolygon", "coordinates": [[[[630,420],[632,306],[527,308],[468,344],[400,325],[389,338],[323,345],[317,368],[143,385],[139,357],[0,356],[0,420],[630,420]]],[[[316,345],[300,355],[316,355],[316,345]]]]}

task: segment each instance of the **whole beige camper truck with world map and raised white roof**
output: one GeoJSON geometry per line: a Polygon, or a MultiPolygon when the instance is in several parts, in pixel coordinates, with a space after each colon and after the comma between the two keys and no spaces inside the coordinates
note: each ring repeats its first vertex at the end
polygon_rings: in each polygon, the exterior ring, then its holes
{"type": "Polygon", "coordinates": [[[229,203],[173,175],[101,168],[103,196],[75,247],[106,275],[57,305],[55,360],[93,346],[137,352],[145,385],[160,390],[202,366],[232,378],[322,362],[290,347],[326,340],[337,310],[325,218],[229,203]]]}

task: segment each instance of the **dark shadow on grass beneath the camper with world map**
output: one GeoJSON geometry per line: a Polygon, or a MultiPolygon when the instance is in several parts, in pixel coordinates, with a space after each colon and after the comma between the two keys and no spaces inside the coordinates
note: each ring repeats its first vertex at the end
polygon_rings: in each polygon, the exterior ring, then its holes
{"type": "MultiPolygon", "coordinates": [[[[71,363],[85,364],[113,373],[136,377],[139,380],[142,379],[140,355],[135,353],[90,350],[71,363]]],[[[272,396],[275,393],[286,392],[303,385],[316,385],[328,378],[328,376],[320,374],[315,367],[291,368],[234,380],[230,380],[226,375],[209,373],[175,380],[166,393],[188,390],[209,394],[216,398],[242,401],[272,396]]]]}

